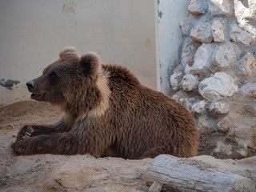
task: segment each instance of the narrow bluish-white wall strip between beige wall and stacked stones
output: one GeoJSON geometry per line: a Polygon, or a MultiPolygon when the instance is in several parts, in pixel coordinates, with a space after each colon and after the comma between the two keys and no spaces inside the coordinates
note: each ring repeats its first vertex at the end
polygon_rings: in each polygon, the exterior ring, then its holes
{"type": "Polygon", "coordinates": [[[190,0],[158,0],[158,87],[164,94],[173,93],[170,74],[180,61],[182,31],[179,25],[188,14],[189,2],[190,0]]]}

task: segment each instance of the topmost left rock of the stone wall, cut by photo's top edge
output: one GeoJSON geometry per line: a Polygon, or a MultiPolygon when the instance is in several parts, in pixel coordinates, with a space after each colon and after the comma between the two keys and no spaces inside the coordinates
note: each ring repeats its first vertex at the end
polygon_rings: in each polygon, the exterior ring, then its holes
{"type": "Polygon", "coordinates": [[[208,4],[204,0],[191,0],[188,10],[191,14],[205,14],[208,4]]]}

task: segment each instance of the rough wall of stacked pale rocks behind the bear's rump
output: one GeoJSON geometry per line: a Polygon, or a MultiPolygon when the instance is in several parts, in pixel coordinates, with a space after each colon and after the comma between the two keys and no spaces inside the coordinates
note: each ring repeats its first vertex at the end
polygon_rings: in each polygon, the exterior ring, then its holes
{"type": "Polygon", "coordinates": [[[252,156],[256,150],[256,1],[191,0],[188,10],[181,22],[181,62],[170,77],[173,98],[197,119],[202,154],[252,156]]]}

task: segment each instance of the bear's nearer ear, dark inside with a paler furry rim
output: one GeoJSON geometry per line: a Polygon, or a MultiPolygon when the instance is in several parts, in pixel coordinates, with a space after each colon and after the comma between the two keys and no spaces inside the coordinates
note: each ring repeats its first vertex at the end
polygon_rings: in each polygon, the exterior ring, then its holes
{"type": "Polygon", "coordinates": [[[94,77],[100,67],[100,58],[94,52],[87,52],[81,56],[81,66],[85,74],[94,77]]]}

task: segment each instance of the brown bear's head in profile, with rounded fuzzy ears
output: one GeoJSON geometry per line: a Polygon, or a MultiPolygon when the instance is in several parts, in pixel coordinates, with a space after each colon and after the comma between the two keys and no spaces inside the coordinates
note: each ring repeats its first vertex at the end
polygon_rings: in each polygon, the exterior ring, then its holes
{"type": "Polygon", "coordinates": [[[97,110],[109,94],[98,55],[88,52],[80,57],[74,47],[62,50],[59,59],[26,86],[34,100],[61,106],[72,116],[97,110]]]}

